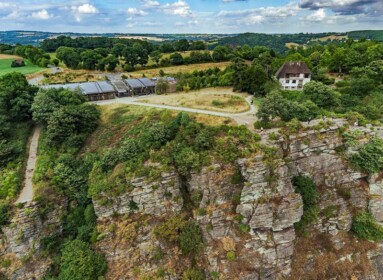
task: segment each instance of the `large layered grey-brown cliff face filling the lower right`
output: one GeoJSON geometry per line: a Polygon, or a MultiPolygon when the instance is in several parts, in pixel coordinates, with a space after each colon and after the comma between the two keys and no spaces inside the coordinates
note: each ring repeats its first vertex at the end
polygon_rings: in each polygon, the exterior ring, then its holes
{"type": "MultiPolygon", "coordinates": [[[[208,279],[382,279],[383,244],[349,232],[359,210],[383,222],[383,176],[350,167],[345,154],[352,149],[341,136],[342,125],[289,137],[265,131],[262,143],[272,148],[232,165],[212,164],[188,178],[140,178],[116,203],[95,202],[107,278],[180,279],[193,263],[208,279]],[[292,185],[296,175],[313,178],[320,192],[320,215],[306,236],[294,229],[303,215],[302,197],[292,185]],[[196,260],[153,232],[181,212],[202,230],[196,260]]],[[[360,142],[382,136],[381,130],[348,128],[356,129],[363,134],[360,142]]]]}

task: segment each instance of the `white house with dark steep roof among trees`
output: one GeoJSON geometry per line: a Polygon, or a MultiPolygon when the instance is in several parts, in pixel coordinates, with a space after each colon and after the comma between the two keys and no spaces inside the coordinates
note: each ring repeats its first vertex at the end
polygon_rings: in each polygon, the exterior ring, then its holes
{"type": "Polygon", "coordinates": [[[312,72],[303,61],[286,62],[275,74],[284,90],[302,90],[303,86],[311,81],[312,72]]]}

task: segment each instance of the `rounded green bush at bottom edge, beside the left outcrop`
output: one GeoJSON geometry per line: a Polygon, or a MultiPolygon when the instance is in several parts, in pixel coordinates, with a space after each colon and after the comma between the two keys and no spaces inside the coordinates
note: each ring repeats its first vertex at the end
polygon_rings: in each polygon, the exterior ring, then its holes
{"type": "Polygon", "coordinates": [[[101,254],[93,252],[80,240],[68,241],[61,250],[60,280],[97,279],[106,272],[106,262],[101,254]]]}

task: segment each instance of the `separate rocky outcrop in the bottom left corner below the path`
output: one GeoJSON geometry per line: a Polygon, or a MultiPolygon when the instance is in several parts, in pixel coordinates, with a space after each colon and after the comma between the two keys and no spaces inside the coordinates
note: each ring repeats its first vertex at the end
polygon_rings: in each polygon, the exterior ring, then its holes
{"type": "Polygon", "coordinates": [[[45,275],[51,260],[40,256],[40,241],[61,233],[60,217],[65,207],[64,201],[43,218],[39,213],[39,204],[28,202],[17,209],[11,224],[2,228],[0,257],[12,264],[2,272],[9,279],[39,279],[45,275]]]}

